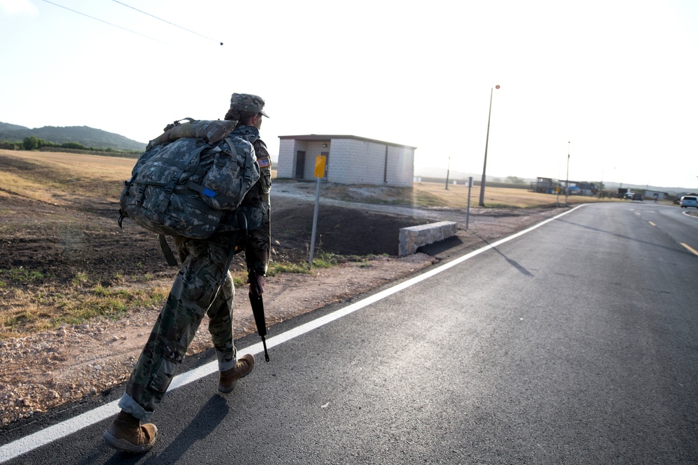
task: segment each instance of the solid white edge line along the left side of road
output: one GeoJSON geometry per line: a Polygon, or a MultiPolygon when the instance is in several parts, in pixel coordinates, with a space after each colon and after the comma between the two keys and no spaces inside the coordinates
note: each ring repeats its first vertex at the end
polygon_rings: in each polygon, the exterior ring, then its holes
{"type": "MultiPolygon", "coordinates": [[[[524,229],[523,231],[519,231],[516,234],[512,234],[511,236],[507,236],[503,239],[500,239],[499,241],[481,247],[480,249],[474,250],[469,254],[463,255],[462,257],[449,261],[447,264],[443,264],[442,266],[433,268],[427,271],[426,273],[423,273],[422,275],[415,276],[409,280],[401,282],[400,284],[396,284],[395,286],[390,287],[389,289],[385,289],[383,291],[378,292],[377,294],[373,294],[373,296],[369,296],[367,298],[364,298],[363,300],[359,300],[358,302],[352,303],[347,307],[343,307],[330,314],[327,314],[324,317],[320,317],[313,321],[309,321],[308,323],[304,323],[301,326],[292,328],[286,331],[285,333],[281,333],[278,336],[271,337],[269,338],[269,340],[267,340],[267,347],[271,349],[274,346],[278,346],[280,344],[283,344],[284,342],[292,340],[294,337],[298,337],[300,335],[304,335],[305,333],[309,333],[314,329],[320,328],[320,326],[325,326],[327,323],[331,323],[336,319],[346,317],[346,315],[350,313],[356,312],[357,310],[371,305],[372,303],[378,302],[378,300],[382,300],[387,296],[391,296],[396,292],[402,291],[403,289],[407,289],[408,287],[413,286],[418,282],[422,282],[428,279],[429,277],[432,277],[433,275],[437,275],[442,271],[445,271],[458,264],[461,264],[463,263],[463,261],[471,259],[481,254],[482,252],[485,252],[486,250],[490,250],[494,247],[497,247],[498,245],[511,241],[514,238],[523,236],[523,234],[527,234],[530,231],[533,231],[534,229],[541,227],[543,224],[547,224],[551,221],[557,220],[558,218],[567,215],[567,213],[572,213],[572,211],[575,211],[577,210],[577,208],[580,208],[585,205],[588,204],[581,204],[579,206],[576,206],[572,208],[572,210],[565,211],[564,213],[560,213],[560,215],[554,216],[553,218],[549,218],[540,223],[534,224],[532,227],[529,227],[528,229],[524,229]]],[[[262,348],[262,342],[258,342],[257,344],[253,344],[244,349],[239,349],[237,353],[239,354],[239,356],[243,356],[246,353],[252,353],[253,355],[256,355],[258,353],[262,353],[263,350],[264,349],[262,348]]],[[[181,386],[185,386],[188,383],[197,381],[198,379],[201,379],[204,376],[208,376],[209,374],[213,374],[217,371],[218,362],[214,361],[207,363],[206,365],[202,365],[201,367],[195,368],[189,372],[179,374],[175,376],[174,379],[172,379],[172,383],[170,383],[169,390],[171,391],[180,388],[181,386]]],[[[15,457],[19,457],[20,455],[26,454],[31,450],[40,448],[43,445],[50,444],[53,441],[57,441],[61,438],[68,436],[69,434],[78,432],[80,431],[80,429],[83,429],[90,425],[94,425],[95,423],[101,422],[106,418],[114,416],[116,413],[119,412],[118,403],[118,400],[114,400],[109,404],[105,404],[91,411],[82,413],[82,415],[70,418],[69,420],[60,422],[57,425],[41,429],[40,431],[34,434],[24,436],[23,438],[17,439],[16,441],[0,446],[0,463],[6,462],[10,459],[14,459],[15,457]]]]}

